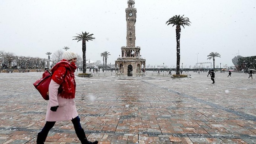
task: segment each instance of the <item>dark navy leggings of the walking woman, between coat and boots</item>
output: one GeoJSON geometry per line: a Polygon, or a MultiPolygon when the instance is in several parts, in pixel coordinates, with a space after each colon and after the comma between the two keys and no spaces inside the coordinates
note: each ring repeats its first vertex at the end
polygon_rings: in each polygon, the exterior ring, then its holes
{"type": "MultiPolygon", "coordinates": [[[[80,124],[80,117],[77,116],[77,117],[73,118],[71,121],[72,121],[72,123],[74,125],[75,131],[79,132],[82,129],[81,124],[80,124]]],[[[48,135],[50,129],[53,128],[55,123],[56,122],[48,122],[48,121],[46,121],[46,123],[45,123],[45,125],[44,125],[44,127],[43,127],[43,129],[41,131],[41,133],[44,133],[44,134],[48,135]]]]}

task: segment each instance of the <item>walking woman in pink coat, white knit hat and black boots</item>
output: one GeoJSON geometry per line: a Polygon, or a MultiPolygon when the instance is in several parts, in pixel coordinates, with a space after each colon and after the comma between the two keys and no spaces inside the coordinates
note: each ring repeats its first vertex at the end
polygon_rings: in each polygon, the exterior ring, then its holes
{"type": "Polygon", "coordinates": [[[71,120],[75,133],[82,144],[98,144],[89,142],[80,124],[80,117],[75,107],[75,69],[77,54],[65,51],[62,60],[52,69],[52,80],[49,85],[49,102],[46,112],[46,123],[37,134],[37,144],[44,144],[47,135],[56,121],[71,120]]]}

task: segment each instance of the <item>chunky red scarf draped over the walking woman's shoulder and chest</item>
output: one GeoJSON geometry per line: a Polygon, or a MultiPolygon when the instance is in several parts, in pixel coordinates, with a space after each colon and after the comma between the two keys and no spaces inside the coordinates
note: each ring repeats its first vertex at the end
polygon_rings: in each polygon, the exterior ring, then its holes
{"type": "Polygon", "coordinates": [[[52,80],[59,84],[59,94],[66,99],[75,98],[75,63],[62,59],[51,69],[52,80]]]}

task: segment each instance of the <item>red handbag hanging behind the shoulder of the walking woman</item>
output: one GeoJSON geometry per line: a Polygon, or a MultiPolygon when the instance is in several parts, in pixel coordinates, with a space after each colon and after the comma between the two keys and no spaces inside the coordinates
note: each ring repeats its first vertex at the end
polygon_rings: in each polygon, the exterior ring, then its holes
{"type": "Polygon", "coordinates": [[[43,99],[49,100],[49,85],[52,80],[52,73],[47,70],[44,71],[43,77],[37,80],[33,85],[43,96],[43,99]]]}

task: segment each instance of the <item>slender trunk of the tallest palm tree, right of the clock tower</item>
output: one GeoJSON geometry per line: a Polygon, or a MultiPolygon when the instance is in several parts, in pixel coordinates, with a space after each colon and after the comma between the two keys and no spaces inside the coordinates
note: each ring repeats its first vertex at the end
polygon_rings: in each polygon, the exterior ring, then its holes
{"type": "Polygon", "coordinates": [[[177,50],[177,63],[176,63],[176,75],[180,75],[180,61],[181,61],[181,55],[180,55],[180,38],[181,38],[181,26],[176,26],[176,50],[177,50]]]}

